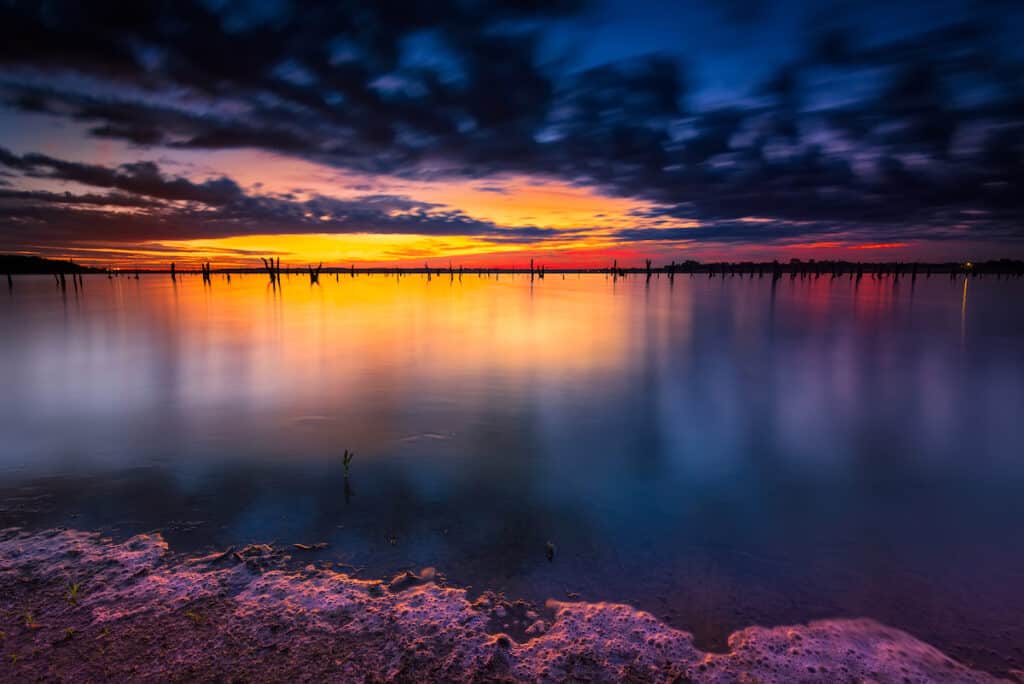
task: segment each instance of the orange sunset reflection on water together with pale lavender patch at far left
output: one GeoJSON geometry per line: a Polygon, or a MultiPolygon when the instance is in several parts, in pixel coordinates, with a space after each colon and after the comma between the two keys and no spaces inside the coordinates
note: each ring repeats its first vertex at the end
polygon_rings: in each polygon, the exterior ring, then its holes
{"type": "Polygon", "coordinates": [[[62,306],[52,283],[23,282],[7,304],[36,313],[25,344],[6,350],[9,380],[40,431],[58,415],[138,426],[159,416],[174,433],[265,433],[268,450],[297,438],[328,448],[332,430],[385,448],[396,433],[446,425],[432,405],[472,415],[560,381],[607,386],[635,362],[643,330],[636,302],[594,280],[321,279],[87,276],[62,306]]]}

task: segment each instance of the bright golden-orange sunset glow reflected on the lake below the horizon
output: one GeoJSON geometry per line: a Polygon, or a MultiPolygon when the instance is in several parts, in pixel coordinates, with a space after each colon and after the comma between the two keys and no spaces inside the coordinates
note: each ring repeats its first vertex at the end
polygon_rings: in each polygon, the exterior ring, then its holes
{"type": "MultiPolygon", "coordinates": [[[[156,349],[173,354],[168,362],[188,402],[309,404],[325,386],[357,397],[430,391],[464,378],[515,385],[600,373],[629,353],[629,300],[610,289],[595,292],[586,281],[543,291],[543,282],[531,287],[524,275],[321,279],[310,286],[305,275],[286,276],[279,288],[256,274],[230,283],[214,275],[212,287],[193,275],[176,285],[167,276],[97,279],[87,284],[85,305],[113,296],[118,318],[94,331],[96,353],[109,355],[100,345],[114,331],[128,349],[117,377],[103,369],[104,377],[77,382],[133,383],[147,370],[132,368],[130,350],[156,349]]],[[[89,337],[77,339],[79,349],[90,344],[89,337]]],[[[59,364],[63,354],[53,351],[48,362],[59,364]]]]}

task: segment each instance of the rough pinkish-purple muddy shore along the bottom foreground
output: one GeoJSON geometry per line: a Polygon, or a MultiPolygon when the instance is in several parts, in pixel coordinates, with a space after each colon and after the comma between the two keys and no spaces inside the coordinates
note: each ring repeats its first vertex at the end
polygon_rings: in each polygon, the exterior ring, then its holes
{"type": "Polygon", "coordinates": [[[470,601],[431,570],[367,582],[289,569],[292,551],[183,558],[159,536],[4,530],[0,679],[997,681],[866,619],[752,627],[709,653],[626,605],[470,601]]]}

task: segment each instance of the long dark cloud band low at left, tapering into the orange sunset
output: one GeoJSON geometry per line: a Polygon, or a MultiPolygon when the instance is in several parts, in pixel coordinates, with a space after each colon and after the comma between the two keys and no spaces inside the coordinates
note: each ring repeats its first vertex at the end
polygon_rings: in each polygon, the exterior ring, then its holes
{"type": "Polygon", "coordinates": [[[305,201],[248,195],[227,178],[193,183],[166,175],[152,162],[111,168],[18,156],[0,147],[0,164],[35,177],[116,188],[106,194],[0,189],[0,243],[8,244],[301,232],[465,236],[514,243],[567,234],[537,226],[498,226],[394,195],[305,201]]]}

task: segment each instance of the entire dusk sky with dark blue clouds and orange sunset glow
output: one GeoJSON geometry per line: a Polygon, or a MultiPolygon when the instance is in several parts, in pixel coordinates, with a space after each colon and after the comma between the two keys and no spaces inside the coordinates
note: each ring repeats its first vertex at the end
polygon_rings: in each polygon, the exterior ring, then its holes
{"type": "Polygon", "coordinates": [[[1018,0],[0,2],[0,253],[1024,257],[1018,0]]]}

